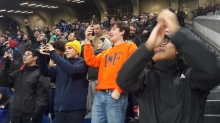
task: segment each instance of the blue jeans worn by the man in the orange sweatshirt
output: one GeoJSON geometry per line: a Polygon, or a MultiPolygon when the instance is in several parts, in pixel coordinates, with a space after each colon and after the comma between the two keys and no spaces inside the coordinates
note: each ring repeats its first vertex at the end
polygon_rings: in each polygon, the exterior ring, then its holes
{"type": "Polygon", "coordinates": [[[92,123],[124,123],[128,106],[127,94],[118,100],[111,93],[98,91],[92,106],[92,123]]]}

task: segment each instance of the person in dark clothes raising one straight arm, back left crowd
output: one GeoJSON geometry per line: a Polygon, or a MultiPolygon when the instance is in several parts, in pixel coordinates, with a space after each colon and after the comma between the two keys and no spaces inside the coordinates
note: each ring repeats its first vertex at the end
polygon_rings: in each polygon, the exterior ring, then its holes
{"type": "Polygon", "coordinates": [[[27,19],[24,20],[24,24],[25,24],[29,39],[31,40],[31,48],[38,50],[43,43],[46,43],[46,35],[43,33],[34,35],[33,31],[28,25],[27,19]],[[37,39],[35,36],[38,36],[37,39]]]}

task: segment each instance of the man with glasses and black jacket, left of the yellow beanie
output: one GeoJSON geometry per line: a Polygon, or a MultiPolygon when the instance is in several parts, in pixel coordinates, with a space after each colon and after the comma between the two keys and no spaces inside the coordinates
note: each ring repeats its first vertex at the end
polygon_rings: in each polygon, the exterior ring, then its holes
{"type": "Polygon", "coordinates": [[[28,49],[23,55],[24,66],[9,74],[4,67],[0,81],[14,88],[10,102],[11,123],[41,123],[43,106],[49,98],[49,78],[40,75],[36,65],[38,52],[28,49]]]}

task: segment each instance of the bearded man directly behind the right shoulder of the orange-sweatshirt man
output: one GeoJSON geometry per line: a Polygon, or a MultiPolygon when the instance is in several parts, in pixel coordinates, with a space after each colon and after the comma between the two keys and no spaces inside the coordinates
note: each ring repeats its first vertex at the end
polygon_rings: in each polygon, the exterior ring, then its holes
{"type": "Polygon", "coordinates": [[[135,24],[130,24],[130,34],[127,42],[134,42],[137,47],[139,47],[142,44],[142,41],[139,36],[136,35],[137,26],[135,24]]]}

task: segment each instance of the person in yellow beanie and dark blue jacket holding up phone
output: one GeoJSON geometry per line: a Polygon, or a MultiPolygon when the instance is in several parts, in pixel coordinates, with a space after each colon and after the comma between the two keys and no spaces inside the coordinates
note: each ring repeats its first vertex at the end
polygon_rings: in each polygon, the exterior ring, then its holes
{"type": "Polygon", "coordinates": [[[42,75],[56,78],[54,113],[56,123],[84,123],[86,110],[86,75],[88,66],[80,57],[81,45],[78,41],[65,45],[66,58],[55,52],[51,44],[40,49],[39,68],[42,75]],[[47,55],[56,63],[48,67],[47,55]]]}

